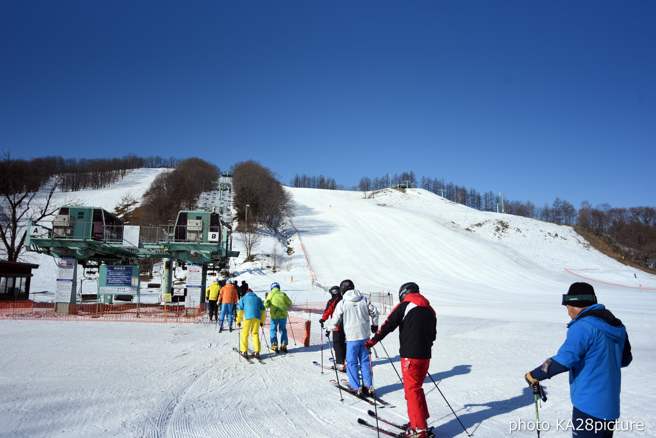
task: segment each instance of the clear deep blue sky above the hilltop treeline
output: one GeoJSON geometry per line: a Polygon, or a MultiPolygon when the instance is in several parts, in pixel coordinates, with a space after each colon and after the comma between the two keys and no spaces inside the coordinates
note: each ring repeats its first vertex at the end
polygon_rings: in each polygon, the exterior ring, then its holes
{"type": "Polygon", "coordinates": [[[0,148],[655,206],[654,22],[653,0],[0,0],[0,148]]]}

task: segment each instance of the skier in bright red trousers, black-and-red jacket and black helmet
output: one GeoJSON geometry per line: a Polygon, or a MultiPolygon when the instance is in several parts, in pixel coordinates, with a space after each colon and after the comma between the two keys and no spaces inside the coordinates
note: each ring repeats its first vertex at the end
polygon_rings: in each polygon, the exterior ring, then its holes
{"type": "Polygon", "coordinates": [[[399,355],[403,373],[403,391],[409,423],[405,437],[427,438],[433,436],[426,420],[428,405],[422,385],[430,366],[430,350],[437,334],[437,318],[428,299],[419,293],[417,283],[403,284],[399,289],[399,303],[371,340],[365,343],[368,350],[399,328],[399,355]]]}

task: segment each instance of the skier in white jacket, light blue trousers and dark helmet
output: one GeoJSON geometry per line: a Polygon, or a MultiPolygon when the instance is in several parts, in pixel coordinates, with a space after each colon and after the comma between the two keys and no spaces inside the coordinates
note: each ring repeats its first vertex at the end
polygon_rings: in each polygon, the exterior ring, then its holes
{"type": "Polygon", "coordinates": [[[373,385],[371,376],[371,362],[369,353],[365,348],[365,341],[369,340],[371,333],[378,330],[378,309],[369,302],[369,299],[356,290],[351,280],[344,280],[339,285],[342,299],[335,306],[333,318],[326,326],[326,336],[339,326],[344,325],[346,336],[346,374],[350,391],[369,397],[369,389],[373,385]],[[371,317],[371,326],[369,326],[371,317]],[[362,372],[362,384],[358,372],[358,363],[362,372]]]}

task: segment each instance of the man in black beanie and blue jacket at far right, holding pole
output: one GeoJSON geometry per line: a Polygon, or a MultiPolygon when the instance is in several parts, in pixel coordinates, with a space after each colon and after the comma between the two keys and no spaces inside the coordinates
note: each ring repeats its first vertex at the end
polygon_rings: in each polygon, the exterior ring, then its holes
{"type": "Polygon", "coordinates": [[[565,342],[555,356],[527,372],[524,378],[533,387],[541,380],[569,371],[572,436],[610,438],[619,418],[621,368],[633,359],[626,327],[603,304],[597,303],[594,288],[588,283],[571,284],[562,305],[571,318],[565,342]],[[586,424],[598,427],[587,430],[586,424]]]}

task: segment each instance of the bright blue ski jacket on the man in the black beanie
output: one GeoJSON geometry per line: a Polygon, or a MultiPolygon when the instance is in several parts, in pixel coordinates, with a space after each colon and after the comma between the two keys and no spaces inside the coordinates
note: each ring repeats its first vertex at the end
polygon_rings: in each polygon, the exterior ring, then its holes
{"type": "Polygon", "coordinates": [[[619,418],[620,368],[631,359],[626,327],[602,304],[584,309],[567,324],[567,338],[552,357],[569,368],[572,405],[605,420],[619,418]]]}

